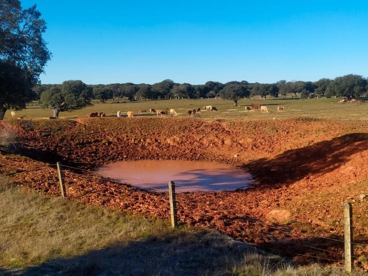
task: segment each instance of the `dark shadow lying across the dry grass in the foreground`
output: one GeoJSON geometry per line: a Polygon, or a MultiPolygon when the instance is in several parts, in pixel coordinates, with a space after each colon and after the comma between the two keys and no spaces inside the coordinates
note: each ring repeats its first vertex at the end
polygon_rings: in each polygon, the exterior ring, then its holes
{"type": "Polygon", "coordinates": [[[213,233],[178,233],[114,244],[72,258],[57,258],[2,275],[224,275],[245,254],[262,251],[213,233]]]}

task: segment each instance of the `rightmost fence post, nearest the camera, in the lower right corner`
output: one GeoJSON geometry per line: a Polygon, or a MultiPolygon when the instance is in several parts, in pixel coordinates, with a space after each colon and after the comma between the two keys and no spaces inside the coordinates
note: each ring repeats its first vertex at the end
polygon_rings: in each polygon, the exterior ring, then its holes
{"type": "Polygon", "coordinates": [[[353,206],[350,203],[344,204],[344,238],[345,238],[345,270],[353,270],[353,206]]]}

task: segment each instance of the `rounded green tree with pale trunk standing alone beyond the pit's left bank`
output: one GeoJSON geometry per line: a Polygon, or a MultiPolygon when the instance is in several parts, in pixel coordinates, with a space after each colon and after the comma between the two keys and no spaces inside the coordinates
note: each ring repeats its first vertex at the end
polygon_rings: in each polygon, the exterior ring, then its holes
{"type": "Polygon", "coordinates": [[[41,107],[53,111],[58,118],[59,112],[74,111],[91,106],[92,88],[82,81],[64,81],[61,85],[53,85],[41,94],[41,107]]]}

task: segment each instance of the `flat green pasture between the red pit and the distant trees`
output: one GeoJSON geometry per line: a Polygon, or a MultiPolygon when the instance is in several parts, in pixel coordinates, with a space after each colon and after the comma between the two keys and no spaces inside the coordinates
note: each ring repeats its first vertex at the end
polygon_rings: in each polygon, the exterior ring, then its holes
{"type": "MultiPolygon", "coordinates": [[[[269,99],[254,100],[243,99],[238,101],[238,106],[234,107],[233,101],[221,99],[193,99],[193,100],[148,100],[122,103],[100,103],[94,101],[94,105],[73,112],[61,112],[60,118],[78,118],[88,116],[91,112],[105,112],[107,116],[116,116],[117,111],[123,114],[127,111],[137,112],[142,110],[142,116],[153,116],[149,113],[149,109],[170,110],[176,109],[179,113],[178,117],[188,117],[187,110],[197,109],[207,105],[216,106],[218,112],[201,111],[200,119],[202,120],[237,120],[237,119],[259,119],[259,118],[291,118],[291,117],[314,117],[337,120],[367,120],[368,105],[358,103],[338,103],[340,99],[269,99]],[[245,106],[249,105],[265,105],[268,107],[269,113],[260,113],[259,109],[255,112],[245,112],[245,106]],[[284,112],[277,112],[277,106],[284,106],[284,112]],[[144,112],[146,111],[146,112],[144,112]]],[[[5,119],[10,119],[11,110],[5,114],[5,119]]],[[[126,115],[126,114],[125,114],[126,115]]],[[[30,118],[48,118],[52,116],[52,112],[48,109],[41,109],[36,103],[28,105],[27,109],[17,112],[17,116],[24,116],[25,119],[30,118]]],[[[140,115],[138,115],[140,116],[140,115]]],[[[193,117],[192,117],[193,118],[193,117]]]]}

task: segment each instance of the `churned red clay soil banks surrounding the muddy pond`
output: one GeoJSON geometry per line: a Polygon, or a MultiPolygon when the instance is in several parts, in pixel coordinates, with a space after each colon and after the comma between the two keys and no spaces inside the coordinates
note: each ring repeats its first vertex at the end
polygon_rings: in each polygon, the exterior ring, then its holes
{"type": "MultiPolygon", "coordinates": [[[[351,202],[354,241],[368,244],[368,202],[359,197],[368,195],[368,133],[362,121],[79,118],[9,121],[0,128],[20,137],[17,155],[1,152],[1,173],[51,195],[60,190],[56,167],[47,163],[57,161],[86,170],[139,159],[223,162],[250,171],[256,184],[233,192],[178,194],[180,222],[215,228],[298,261],[341,262],[343,203],[351,202]]],[[[137,190],[88,171],[64,172],[71,198],[169,217],[167,193],[137,190]]],[[[355,245],[363,266],[367,249],[355,245]]]]}

